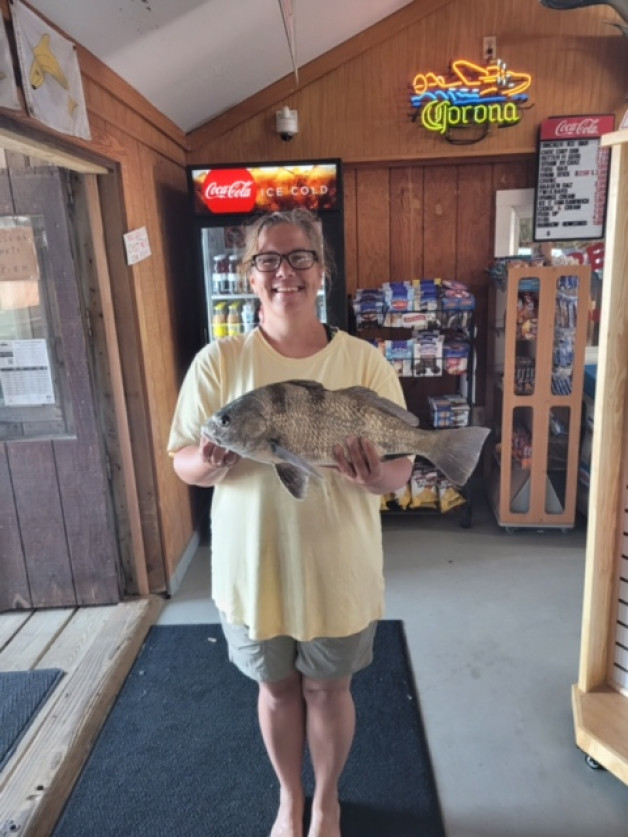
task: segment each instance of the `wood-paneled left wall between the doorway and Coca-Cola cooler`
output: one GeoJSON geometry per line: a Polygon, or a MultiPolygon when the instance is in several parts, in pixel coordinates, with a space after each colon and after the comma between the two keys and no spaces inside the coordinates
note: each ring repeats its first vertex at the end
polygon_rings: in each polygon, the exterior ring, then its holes
{"type": "MultiPolygon", "coordinates": [[[[14,47],[8,0],[0,0],[0,9],[14,47]]],[[[99,178],[108,267],[148,582],[151,591],[160,591],[197,524],[194,492],[175,476],[166,453],[183,370],[201,334],[185,223],[187,139],[80,45],[78,56],[91,141],[62,136],[25,113],[2,109],[0,129],[84,157],[110,172],[99,178]],[[122,234],[142,226],[148,231],[152,255],[129,267],[122,234]]],[[[137,592],[132,583],[127,592],[137,592]]]]}

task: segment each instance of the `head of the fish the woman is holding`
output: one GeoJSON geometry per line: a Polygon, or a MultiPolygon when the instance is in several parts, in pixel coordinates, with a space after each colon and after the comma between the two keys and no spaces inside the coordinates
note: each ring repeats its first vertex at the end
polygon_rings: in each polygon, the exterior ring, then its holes
{"type": "Polygon", "coordinates": [[[250,393],[211,415],[201,432],[215,445],[255,459],[269,447],[269,419],[263,400],[250,393]]]}

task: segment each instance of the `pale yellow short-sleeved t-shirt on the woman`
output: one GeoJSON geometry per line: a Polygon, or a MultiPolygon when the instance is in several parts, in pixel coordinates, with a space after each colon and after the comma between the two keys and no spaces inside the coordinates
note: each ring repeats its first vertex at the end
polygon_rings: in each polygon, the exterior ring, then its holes
{"type": "MultiPolygon", "coordinates": [[[[319,381],[328,389],[366,386],[404,405],[380,352],[339,331],[311,357],[276,352],[259,329],[205,346],[183,382],[168,450],[197,445],[209,415],[266,384],[319,381]]],[[[333,469],[293,499],[274,468],[241,459],[214,487],[212,595],[229,622],[253,639],[348,636],[384,607],[380,498],[333,469]]]]}

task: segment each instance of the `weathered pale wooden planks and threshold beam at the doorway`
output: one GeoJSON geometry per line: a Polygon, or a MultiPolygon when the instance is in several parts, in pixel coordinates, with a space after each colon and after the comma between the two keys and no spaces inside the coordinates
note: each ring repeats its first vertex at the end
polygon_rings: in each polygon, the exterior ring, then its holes
{"type": "MultiPolygon", "coordinates": [[[[42,641],[37,656],[24,659],[22,667],[60,668],[65,674],[2,771],[0,823],[10,823],[10,831],[29,837],[52,834],[162,606],[161,599],[151,596],[114,607],[80,608],[69,620],[67,612],[61,614],[63,627],[58,617],[57,627],[51,626],[45,612],[31,616],[42,641]]],[[[0,624],[5,618],[0,616],[0,624]]]]}

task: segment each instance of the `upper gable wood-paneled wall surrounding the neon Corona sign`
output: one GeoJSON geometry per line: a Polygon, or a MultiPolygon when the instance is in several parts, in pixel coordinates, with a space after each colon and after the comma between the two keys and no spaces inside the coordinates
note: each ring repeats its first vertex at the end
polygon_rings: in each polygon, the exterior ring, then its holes
{"type": "Polygon", "coordinates": [[[536,150],[541,120],[626,108],[628,43],[605,21],[608,5],[555,11],[538,0],[415,0],[356,38],[247,99],[189,135],[190,162],[341,157],[347,163],[465,159],[536,150]],[[530,107],[520,124],[474,145],[452,145],[410,120],[409,84],[446,71],[451,59],[482,60],[482,38],[512,70],[530,72],[530,107]],[[275,111],[299,113],[283,142],[275,111]]]}

